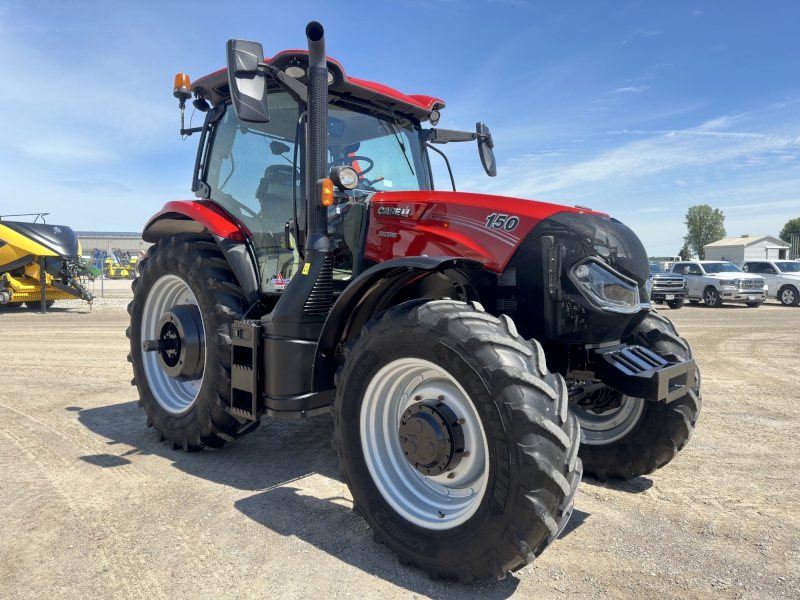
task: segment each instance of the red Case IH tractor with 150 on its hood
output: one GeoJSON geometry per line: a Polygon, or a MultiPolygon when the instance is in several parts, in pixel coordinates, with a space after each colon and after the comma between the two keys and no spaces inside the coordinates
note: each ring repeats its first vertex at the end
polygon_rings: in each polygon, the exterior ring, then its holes
{"type": "Polygon", "coordinates": [[[205,113],[181,129],[198,199],[144,229],[140,405],[186,451],[330,412],[376,540],[432,577],[501,578],[558,537],[584,470],[630,479],[683,448],[692,351],[628,227],[435,191],[437,144],[476,141],[495,175],[489,128],[423,128],[443,101],[350,77],[319,23],[306,36],[271,59],[230,40],[227,69],[176,78],[205,113]]]}

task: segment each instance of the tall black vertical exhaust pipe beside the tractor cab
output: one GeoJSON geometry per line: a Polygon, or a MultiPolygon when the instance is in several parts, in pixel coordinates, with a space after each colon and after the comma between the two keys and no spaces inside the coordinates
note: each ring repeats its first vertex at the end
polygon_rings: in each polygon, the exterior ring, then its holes
{"type": "Polygon", "coordinates": [[[306,250],[330,252],[328,211],[322,206],[317,189],[317,182],[328,176],[328,61],[325,54],[325,30],[317,21],[311,21],[306,25],[306,38],[308,39],[306,250]]]}

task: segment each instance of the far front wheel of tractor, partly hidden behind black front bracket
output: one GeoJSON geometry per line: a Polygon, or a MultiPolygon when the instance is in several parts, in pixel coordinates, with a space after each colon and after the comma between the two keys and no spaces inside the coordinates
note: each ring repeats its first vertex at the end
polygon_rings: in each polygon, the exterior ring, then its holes
{"type": "MultiPolygon", "coordinates": [[[[658,313],[650,313],[626,341],[644,346],[671,362],[692,358],[688,342],[678,335],[669,319],[658,313]]],[[[689,442],[701,408],[699,370],[694,387],[669,404],[639,398],[623,400],[618,411],[628,411],[634,415],[635,422],[622,420],[618,423],[618,429],[625,428],[620,431],[623,433],[621,437],[615,438],[614,429],[610,428],[601,430],[601,433],[588,428],[581,430],[578,456],[583,459],[586,474],[600,481],[609,478],[628,480],[660,469],[689,442]]],[[[602,422],[606,426],[615,414],[603,413],[600,418],[593,419],[592,412],[583,411],[578,406],[573,406],[572,410],[584,427],[592,422],[602,422]],[[604,414],[607,417],[602,419],[604,414]]]]}

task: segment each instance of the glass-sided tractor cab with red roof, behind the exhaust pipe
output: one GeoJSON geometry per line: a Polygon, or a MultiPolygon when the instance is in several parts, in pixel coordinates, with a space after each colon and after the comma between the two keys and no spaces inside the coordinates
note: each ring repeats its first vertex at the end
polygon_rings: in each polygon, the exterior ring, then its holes
{"type": "MultiPolygon", "coordinates": [[[[253,42],[233,42],[248,44],[248,55],[254,47],[253,42]]],[[[338,199],[325,207],[333,253],[332,285],[337,294],[361,271],[363,252],[359,250],[369,198],[378,192],[433,190],[429,144],[477,139],[490,175],[494,175],[494,157],[491,134],[482,123],[476,133],[422,128],[423,122],[438,122],[445,106],[442,100],[351,78],[338,61],[325,60],[328,106],[323,169],[328,176],[336,167],[346,168],[353,180],[346,186],[337,182],[338,199]]],[[[262,70],[272,74],[264,82],[266,95],[258,102],[266,107],[263,116],[253,118],[237,110],[237,96],[231,93],[236,77],[230,79],[235,64],[194,84],[179,74],[175,95],[181,106],[194,95],[194,107],[206,113],[203,127],[181,129],[188,135],[201,133],[192,189],[241,225],[257,265],[258,292],[274,296],[288,288],[305,260],[309,53],[281,52],[262,65],[262,70]]]]}

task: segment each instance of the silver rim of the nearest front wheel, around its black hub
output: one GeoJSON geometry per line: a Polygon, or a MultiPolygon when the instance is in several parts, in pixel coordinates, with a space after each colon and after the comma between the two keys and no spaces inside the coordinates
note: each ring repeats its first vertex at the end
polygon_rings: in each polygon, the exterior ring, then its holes
{"type": "Polygon", "coordinates": [[[372,479],[403,518],[425,529],[443,530],[461,525],[478,510],[489,482],[489,445],[475,405],[444,369],[417,358],[384,366],[364,394],[360,431],[372,479]],[[454,469],[438,475],[414,468],[399,435],[403,413],[420,402],[445,404],[464,435],[468,454],[454,469]]]}

